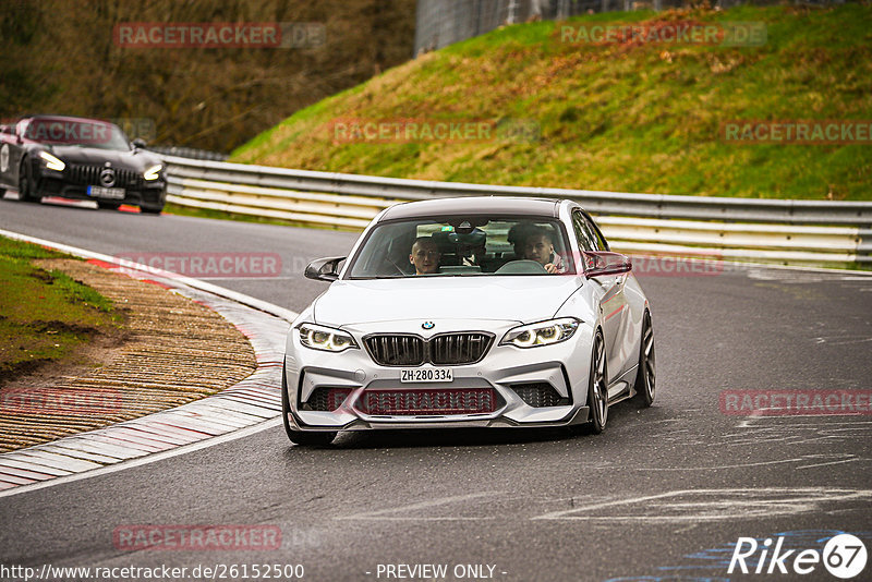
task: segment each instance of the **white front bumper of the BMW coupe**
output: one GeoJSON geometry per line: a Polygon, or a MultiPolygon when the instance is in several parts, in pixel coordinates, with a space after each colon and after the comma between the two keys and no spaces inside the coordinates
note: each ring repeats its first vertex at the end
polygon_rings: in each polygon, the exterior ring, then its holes
{"type": "MultiPolygon", "coordinates": [[[[505,332],[518,325],[506,322],[495,328],[455,327],[457,331],[486,330],[496,335],[485,356],[476,364],[450,367],[451,383],[400,383],[401,367],[376,364],[363,348],[361,338],[373,329],[349,329],[359,349],[330,353],[305,348],[299,331],[288,336],[284,380],[290,413],[288,422],[296,431],[367,431],[379,428],[460,428],[460,427],[546,427],[569,426],[588,421],[588,378],[591,360],[592,329],[582,324],[568,341],[554,345],[520,349],[498,345],[505,332]],[[559,397],[559,405],[531,405],[520,396],[521,388],[549,385],[559,397]],[[334,411],[305,410],[310,398],[319,389],[343,389],[349,396],[334,411]],[[402,415],[367,414],[360,405],[367,391],[415,390],[435,392],[445,389],[493,388],[497,405],[493,412],[402,415]]],[[[451,327],[437,322],[441,332],[451,327]]],[[[395,329],[391,329],[395,331],[395,329]]],[[[396,330],[398,332],[404,330],[396,330]]],[[[424,365],[420,367],[431,367],[424,365]]]]}

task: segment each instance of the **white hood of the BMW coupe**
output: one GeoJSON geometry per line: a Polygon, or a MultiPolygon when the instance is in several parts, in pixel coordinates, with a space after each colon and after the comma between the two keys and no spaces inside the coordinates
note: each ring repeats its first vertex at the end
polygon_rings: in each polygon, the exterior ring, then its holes
{"type": "Polygon", "coordinates": [[[557,313],[581,281],[574,276],[339,280],[315,301],[314,318],[334,327],[446,318],[531,323],[557,313]]]}

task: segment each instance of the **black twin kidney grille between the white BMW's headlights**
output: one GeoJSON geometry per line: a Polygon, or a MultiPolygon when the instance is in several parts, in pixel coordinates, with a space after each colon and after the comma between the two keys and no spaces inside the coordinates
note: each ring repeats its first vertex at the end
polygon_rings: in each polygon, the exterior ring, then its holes
{"type": "Polygon", "coordinates": [[[363,343],[376,364],[420,366],[474,364],[484,357],[494,336],[484,332],[440,334],[425,340],[409,335],[378,335],[363,343]]]}

